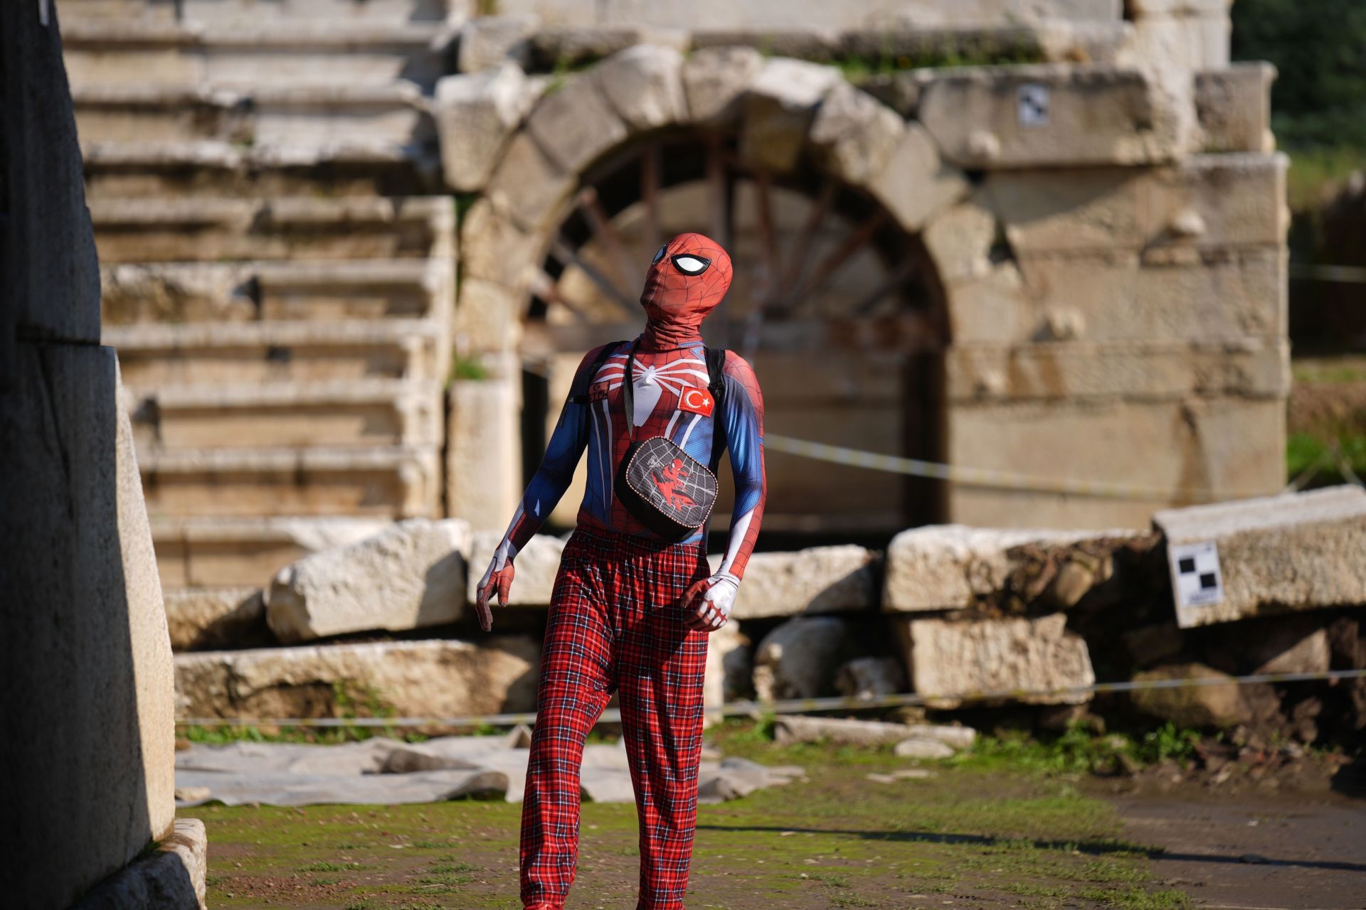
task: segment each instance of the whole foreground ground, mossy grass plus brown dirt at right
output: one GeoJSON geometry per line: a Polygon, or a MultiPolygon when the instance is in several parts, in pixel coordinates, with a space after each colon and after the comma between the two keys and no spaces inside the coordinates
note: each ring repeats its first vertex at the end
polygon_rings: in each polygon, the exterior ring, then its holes
{"type": "MultiPolygon", "coordinates": [[[[807,780],[699,812],[691,910],[1366,907],[1366,799],[1224,790],[888,749],[724,742],[807,780]],[[918,768],[882,783],[867,775],[918,768]]],[[[520,808],[199,806],[210,907],[516,910],[520,808]]],[[[635,810],[583,806],[568,906],[635,906],[635,810]]]]}

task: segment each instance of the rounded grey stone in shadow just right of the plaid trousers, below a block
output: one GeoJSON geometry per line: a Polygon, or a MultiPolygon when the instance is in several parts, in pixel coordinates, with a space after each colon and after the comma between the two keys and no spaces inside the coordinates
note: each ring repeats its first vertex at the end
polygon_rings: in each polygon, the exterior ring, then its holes
{"type": "Polygon", "coordinates": [[[848,629],[833,617],[798,617],[777,626],[754,652],[754,690],[762,701],[829,694],[848,629]]]}

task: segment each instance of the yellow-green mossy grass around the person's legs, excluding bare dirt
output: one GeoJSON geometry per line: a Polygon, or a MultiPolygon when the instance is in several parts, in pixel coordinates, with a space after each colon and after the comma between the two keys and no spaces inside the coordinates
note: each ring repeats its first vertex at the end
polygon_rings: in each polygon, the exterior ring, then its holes
{"type": "MultiPolygon", "coordinates": [[[[699,808],[698,906],[904,907],[907,894],[974,895],[985,906],[1022,898],[1044,906],[1184,906],[1183,895],[1153,881],[1153,847],[1126,842],[1108,802],[1053,774],[1079,767],[1078,756],[1100,748],[1081,734],[1033,746],[993,739],[958,763],[926,765],[930,779],[876,784],[866,779],[870,771],[907,761],[889,749],[779,746],[770,727],[731,720],[708,733],[727,754],[800,764],[809,779],[699,808]]],[[[1130,739],[1127,748],[1177,753],[1184,741],[1172,730],[1147,744],[1130,739]]],[[[518,907],[519,805],[309,806],[303,813],[209,805],[195,812],[216,847],[210,906],[261,906],[275,896],[276,877],[305,872],[332,873],[316,880],[333,888],[328,906],[392,910],[454,900],[462,910],[518,907]],[[342,857],[336,842],[344,842],[342,857]],[[410,849],[393,850],[398,842],[410,849]]],[[[632,906],[635,806],[586,804],[581,831],[576,903],[632,906]]]]}

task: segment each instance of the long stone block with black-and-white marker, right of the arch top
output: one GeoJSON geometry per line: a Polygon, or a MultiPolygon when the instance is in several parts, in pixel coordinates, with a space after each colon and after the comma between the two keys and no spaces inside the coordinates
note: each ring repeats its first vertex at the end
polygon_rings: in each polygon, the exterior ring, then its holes
{"type": "Polygon", "coordinates": [[[1158,164],[1194,139],[1190,91],[1167,85],[1111,65],[945,70],[922,90],[919,119],[944,157],[967,168],[1158,164]],[[1046,93],[1046,113],[1024,120],[1031,91],[1046,93]]]}

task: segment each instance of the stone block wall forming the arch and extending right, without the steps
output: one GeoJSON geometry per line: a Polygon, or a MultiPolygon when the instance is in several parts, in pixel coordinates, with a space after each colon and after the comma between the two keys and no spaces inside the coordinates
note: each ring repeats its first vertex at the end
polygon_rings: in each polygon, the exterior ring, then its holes
{"type": "MultiPolygon", "coordinates": [[[[1198,31],[1208,44],[1223,34],[1227,45],[1218,3],[1139,7],[1137,23],[1150,26],[1143,34],[1198,31]]],[[[734,136],[750,172],[810,175],[872,198],[923,244],[947,323],[933,342],[938,411],[897,398],[887,413],[869,413],[866,426],[850,423],[848,404],[831,412],[828,426],[811,423],[828,377],[813,372],[794,386],[775,371],[784,400],[769,415],[777,432],[824,439],[828,431],[870,450],[899,447],[904,419],[930,435],[932,460],[1020,476],[1015,490],[948,483],[941,509],[917,520],[1104,528],[1142,524],[1164,505],[1280,487],[1288,217],[1285,158],[1269,141],[1268,68],[1228,68],[1227,55],[1213,52],[1168,53],[1121,29],[1091,56],[1079,45],[1040,45],[1050,61],[908,64],[859,82],[848,65],[861,46],[858,23],[839,23],[850,30],[825,50],[794,46],[810,57],[796,60],[713,46],[701,26],[673,37],[623,31],[612,16],[627,16],[624,7],[596,8],[608,20],[578,20],[572,42],[553,4],[519,7],[520,19],[473,19],[460,55],[462,70],[474,71],[445,78],[437,91],[443,143],[462,149],[447,160],[447,179],[477,194],[462,225],[455,344],[492,356],[520,348],[533,368],[548,363],[549,420],[578,355],[568,342],[563,353],[553,349],[567,337],[555,322],[556,300],[574,297],[578,307],[561,322],[591,322],[594,307],[615,312],[593,282],[546,277],[549,263],[571,255],[560,232],[597,191],[591,175],[601,162],[660,131],[701,128],[734,136]],[[688,46],[684,57],[679,50],[688,46]],[[553,57],[546,48],[578,53],[582,70],[541,75],[553,57]],[[844,65],[811,61],[826,59],[844,65]],[[549,302],[544,326],[526,315],[533,296],[549,302]],[[523,337],[531,329],[537,334],[523,337]],[[802,404],[785,401],[802,396],[802,404]],[[1030,491],[1030,479],[1127,484],[1132,493],[1119,501],[1060,495],[1030,491]]],[[[893,45],[930,41],[918,29],[903,22],[884,35],[893,45]]],[[[754,35],[731,41],[762,44],[754,35]]],[[[638,209],[607,214],[634,241],[638,209]]],[[[736,243],[762,246],[753,232],[736,243]]],[[[590,240],[579,255],[613,267],[608,246],[590,240]]],[[[582,276],[576,265],[566,274],[582,276]]],[[[762,267],[740,262],[738,274],[762,267]]],[[[865,356],[872,345],[870,336],[865,356]]],[[[761,382],[764,367],[776,370],[765,357],[781,353],[759,348],[761,382]]],[[[501,449],[510,431],[516,427],[482,426],[479,438],[501,449]]],[[[805,472],[825,469],[772,458],[775,520],[790,505],[784,497],[800,490],[824,510],[826,529],[881,527],[884,517],[861,499],[880,479],[847,472],[832,473],[820,493],[802,486],[805,472]],[[863,512],[839,514],[825,494],[863,512]]],[[[484,460],[448,463],[448,490],[478,487],[481,476],[489,476],[484,460]]],[[[570,518],[572,505],[557,517],[570,518]]]]}

